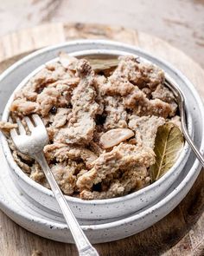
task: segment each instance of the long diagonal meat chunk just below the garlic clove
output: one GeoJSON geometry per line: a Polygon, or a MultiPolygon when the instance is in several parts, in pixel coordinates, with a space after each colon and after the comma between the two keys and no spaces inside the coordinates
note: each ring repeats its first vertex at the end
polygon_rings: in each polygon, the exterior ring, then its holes
{"type": "Polygon", "coordinates": [[[121,143],[111,152],[103,153],[92,163],[93,167],[86,174],[80,176],[77,187],[90,189],[105,179],[107,174],[117,172],[119,169],[133,166],[150,167],[155,161],[155,154],[151,148],[143,148],[131,144],[121,143]]]}

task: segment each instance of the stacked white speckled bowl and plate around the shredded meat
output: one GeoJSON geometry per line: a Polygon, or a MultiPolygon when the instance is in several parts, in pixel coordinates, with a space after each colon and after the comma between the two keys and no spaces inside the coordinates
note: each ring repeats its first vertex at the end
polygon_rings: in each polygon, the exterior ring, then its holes
{"type": "MultiPolygon", "coordinates": [[[[83,40],[65,43],[41,49],[16,62],[0,77],[1,112],[7,103],[3,112],[4,120],[8,117],[10,105],[8,99],[16,86],[20,84],[18,89],[23,86],[29,77],[34,75],[32,72],[36,72],[35,69],[39,70],[45,62],[53,61],[60,51],[66,51],[73,56],[132,54],[158,65],[182,89],[187,99],[188,131],[194,136],[197,147],[201,149],[201,152],[203,151],[203,106],[193,85],[168,63],[150,56],[141,49],[110,41],[83,40]],[[28,75],[29,77],[27,77],[28,75]],[[25,77],[27,77],[26,80],[25,77]]],[[[33,233],[52,240],[73,242],[53,194],[48,189],[31,181],[20,169],[17,169],[19,167],[16,167],[15,162],[10,161],[10,150],[3,136],[2,141],[0,207],[3,212],[33,233]],[[7,161],[10,162],[10,166],[7,161]]],[[[92,243],[118,240],[138,233],[161,220],[188,193],[200,170],[199,161],[195,159],[194,154],[185,144],[182,155],[175,166],[150,187],[122,198],[102,200],[100,203],[99,200],[83,203],[82,200],[74,200],[70,197],[67,197],[67,200],[92,243]]]]}

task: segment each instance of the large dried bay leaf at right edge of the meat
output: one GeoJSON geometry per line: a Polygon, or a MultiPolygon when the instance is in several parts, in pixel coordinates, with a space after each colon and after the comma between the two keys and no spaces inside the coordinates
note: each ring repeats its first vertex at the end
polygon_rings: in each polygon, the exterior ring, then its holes
{"type": "Polygon", "coordinates": [[[159,127],[156,133],[156,163],[150,167],[151,181],[157,181],[175,164],[182,151],[184,139],[181,130],[169,122],[159,127]]]}

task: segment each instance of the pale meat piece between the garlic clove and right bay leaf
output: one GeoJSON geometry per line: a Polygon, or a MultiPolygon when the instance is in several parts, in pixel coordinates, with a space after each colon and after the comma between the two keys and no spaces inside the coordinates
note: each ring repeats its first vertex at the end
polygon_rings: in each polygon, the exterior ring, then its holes
{"type": "Polygon", "coordinates": [[[128,126],[135,131],[137,143],[153,149],[157,129],[164,123],[163,117],[131,115],[128,126]]]}

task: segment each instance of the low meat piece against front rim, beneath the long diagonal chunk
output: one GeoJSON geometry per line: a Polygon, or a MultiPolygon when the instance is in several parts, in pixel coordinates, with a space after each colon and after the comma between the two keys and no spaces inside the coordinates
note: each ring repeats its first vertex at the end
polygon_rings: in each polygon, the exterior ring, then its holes
{"type": "Polygon", "coordinates": [[[131,191],[140,189],[146,185],[146,167],[133,167],[124,172],[120,179],[112,180],[107,190],[98,192],[84,189],[80,192],[80,197],[86,200],[107,199],[129,194],[131,191]]]}

